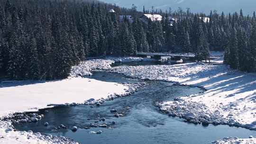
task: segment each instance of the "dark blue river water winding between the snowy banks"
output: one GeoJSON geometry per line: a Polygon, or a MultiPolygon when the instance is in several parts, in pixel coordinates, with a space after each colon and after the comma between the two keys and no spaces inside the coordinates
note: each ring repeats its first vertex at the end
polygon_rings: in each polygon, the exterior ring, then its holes
{"type": "MultiPolygon", "coordinates": [[[[131,63],[128,63],[131,65],[131,63]]],[[[119,74],[94,72],[92,79],[111,82],[136,83],[139,80],[125,78],[119,74]]],[[[100,88],[99,88],[100,90],[100,88]]],[[[161,81],[146,81],[146,86],[129,97],[114,99],[103,103],[100,107],[75,106],[56,107],[37,123],[15,125],[18,130],[32,130],[43,134],[67,136],[81,144],[208,144],[227,136],[247,138],[256,135],[256,131],[229,126],[201,126],[189,124],[180,118],[168,117],[158,111],[156,102],[173,100],[174,97],[199,93],[199,88],[172,86],[172,83],[161,81]],[[114,117],[110,109],[117,109],[123,117],[114,117]],[[101,118],[109,128],[90,127],[91,123],[102,124],[101,118]],[[95,123],[99,121],[99,123],[95,123]],[[116,124],[112,125],[112,121],[116,124]],[[43,126],[48,122],[49,126],[43,126]],[[55,126],[64,124],[68,129],[53,131],[55,126]],[[72,126],[79,129],[72,132],[72,126]],[[100,135],[89,134],[99,131],[100,135]]]]}

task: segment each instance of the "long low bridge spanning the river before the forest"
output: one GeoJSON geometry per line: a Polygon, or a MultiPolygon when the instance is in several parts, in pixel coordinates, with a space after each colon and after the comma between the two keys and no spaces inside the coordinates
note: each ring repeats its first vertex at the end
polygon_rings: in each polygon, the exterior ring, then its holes
{"type": "MultiPolygon", "coordinates": [[[[172,57],[173,60],[178,61],[181,58],[188,58],[191,60],[195,60],[194,54],[170,54],[170,53],[137,53],[137,56],[141,57],[147,57],[151,56],[152,58],[156,60],[161,60],[162,56],[169,56],[172,57]]],[[[215,57],[210,57],[210,59],[214,59],[215,57]]]]}

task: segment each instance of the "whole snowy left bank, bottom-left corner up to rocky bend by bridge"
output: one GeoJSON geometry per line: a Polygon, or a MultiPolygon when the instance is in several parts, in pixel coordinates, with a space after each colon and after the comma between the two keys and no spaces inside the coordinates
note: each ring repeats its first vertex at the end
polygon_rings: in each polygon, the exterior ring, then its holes
{"type": "MultiPolygon", "coordinates": [[[[118,84],[81,78],[91,75],[93,70],[106,70],[114,62],[148,61],[147,58],[124,57],[96,59],[82,62],[71,70],[70,78],[60,81],[12,81],[0,83],[0,144],[75,144],[65,137],[47,137],[39,133],[16,132],[11,122],[1,121],[13,117],[12,113],[37,111],[63,104],[89,104],[90,99],[114,99],[126,95],[135,84],[118,84]],[[101,90],[99,90],[101,88],[101,90]]],[[[97,102],[97,101],[96,101],[97,102]]],[[[102,101],[100,101],[102,102],[102,101]]]]}

